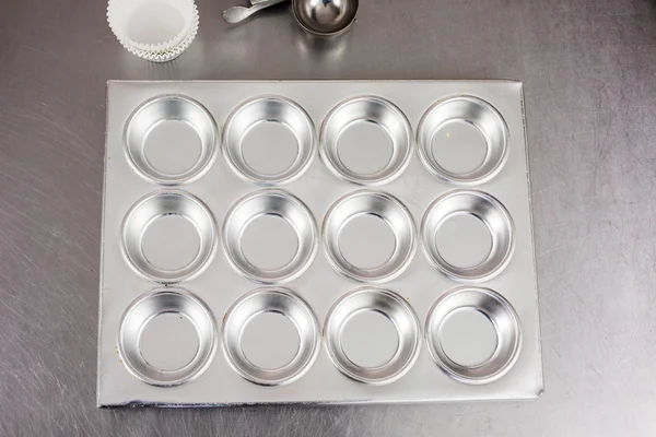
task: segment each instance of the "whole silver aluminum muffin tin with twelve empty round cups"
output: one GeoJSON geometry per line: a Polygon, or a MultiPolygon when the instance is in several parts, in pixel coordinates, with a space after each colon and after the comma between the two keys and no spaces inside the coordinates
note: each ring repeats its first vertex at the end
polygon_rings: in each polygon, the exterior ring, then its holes
{"type": "Polygon", "coordinates": [[[107,95],[99,406],[541,394],[520,83],[107,95]]]}

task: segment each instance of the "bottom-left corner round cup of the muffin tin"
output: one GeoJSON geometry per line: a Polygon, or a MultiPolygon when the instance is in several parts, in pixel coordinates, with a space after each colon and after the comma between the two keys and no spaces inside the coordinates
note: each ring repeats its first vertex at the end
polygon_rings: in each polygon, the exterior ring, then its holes
{"type": "Polygon", "coordinates": [[[128,371],[143,382],[162,387],[189,382],[214,355],[214,318],[198,297],[183,288],[153,290],[124,312],[118,351],[128,371]],[[162,327],[166,331],[157,332],[162,327]]]}

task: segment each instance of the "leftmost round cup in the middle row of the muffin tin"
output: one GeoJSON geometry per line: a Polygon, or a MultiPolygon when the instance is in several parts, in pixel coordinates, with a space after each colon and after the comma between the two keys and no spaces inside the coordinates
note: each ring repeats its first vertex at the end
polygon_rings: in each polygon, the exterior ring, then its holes
{"type": "Polygon", "coordinates": [[[160,283],[200,274],[214,255],[215,241],[212,213],[200,199],[180,190],[142,198],[128,211],[121,229],[128,264],[160,283]]]}

